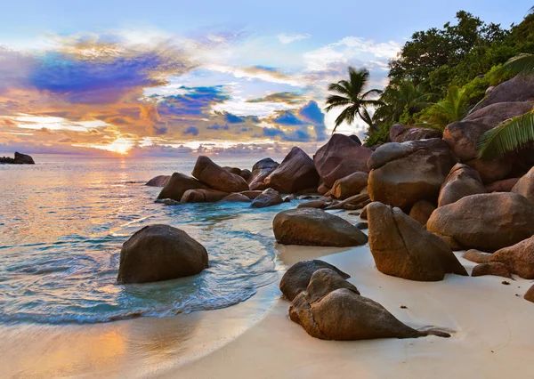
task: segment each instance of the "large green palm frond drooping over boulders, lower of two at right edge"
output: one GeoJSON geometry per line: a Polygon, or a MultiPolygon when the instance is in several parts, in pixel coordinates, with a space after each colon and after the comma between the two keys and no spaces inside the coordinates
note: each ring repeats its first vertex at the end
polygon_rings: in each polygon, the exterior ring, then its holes
{"type": "Polygon", "coordinates": [[[505,121],[481,135],[478,156],[491,160],[534,142],[534,113],[531,111],[505,121]]]}

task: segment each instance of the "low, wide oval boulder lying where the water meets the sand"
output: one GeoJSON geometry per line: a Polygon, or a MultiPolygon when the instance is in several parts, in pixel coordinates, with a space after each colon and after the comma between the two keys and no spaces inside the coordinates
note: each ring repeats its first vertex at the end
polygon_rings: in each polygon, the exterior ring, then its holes
{"type": "Polygon", "coordinates": [[[341,217],[315,208],[280,212],[272,222],[279,244],[303,246],[360,246],[368,237],[341,217]]]}

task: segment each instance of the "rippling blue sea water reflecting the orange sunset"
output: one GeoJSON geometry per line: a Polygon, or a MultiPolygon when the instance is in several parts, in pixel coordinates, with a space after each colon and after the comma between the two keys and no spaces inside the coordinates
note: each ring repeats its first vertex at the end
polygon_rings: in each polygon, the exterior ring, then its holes
{"type": "MultiPolygon", "coordinates": [[[[165,317],[242,302],[277,278],[271,221],[282,204],[164,206],[158,174],[190,173],[194,158],[34,156],[0,165],[0,322],[94,323],[165,317]],[[120,248],[166,223],[206,246],[210,267],[191,278],[119,286],[120,248]]],[[[251,168],[261,157],[216,159],[251,168]]]]}

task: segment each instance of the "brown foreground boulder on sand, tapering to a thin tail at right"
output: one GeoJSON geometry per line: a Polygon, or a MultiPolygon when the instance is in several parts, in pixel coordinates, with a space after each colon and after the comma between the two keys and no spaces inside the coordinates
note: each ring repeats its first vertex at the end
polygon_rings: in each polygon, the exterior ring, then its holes
{"type": "Polygon", "coordinates": [[[313,273],[306,291],[297,294],[291,302],[289,318],[308,335],[322,340],[449,336],[441,332],[419,332],[404,325],[382,305],[361,296],[355,286],[329,269],[313,273]]]}

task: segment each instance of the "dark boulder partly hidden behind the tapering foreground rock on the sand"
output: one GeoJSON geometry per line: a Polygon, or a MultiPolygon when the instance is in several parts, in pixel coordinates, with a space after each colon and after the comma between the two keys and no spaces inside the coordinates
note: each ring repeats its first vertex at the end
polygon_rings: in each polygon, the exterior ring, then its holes
{"type": "Polygon", "coordinates": [[[280,280],[280,291],[289,301],[295,299],[297,294],[306,290],[312,275],[317,270],[334,270],[341,278],[351,278],[351,276],[330,263],[313,259],[311,261],[296,262],[286,271],[280,280]]]}

